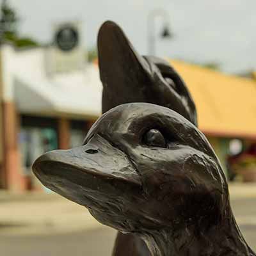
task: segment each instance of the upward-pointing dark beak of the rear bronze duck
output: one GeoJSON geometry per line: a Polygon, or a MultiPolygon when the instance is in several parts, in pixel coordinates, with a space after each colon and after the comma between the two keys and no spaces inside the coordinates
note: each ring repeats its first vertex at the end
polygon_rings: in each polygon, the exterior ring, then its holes
{"type": "Polygon", "coordinates": [[[144,88],[152,81],[150,67],[115,22],[102,24],[98,35],[98,54],[100,79],[104,87],[102,112],[119,104],[145,102],[144,88]]]}

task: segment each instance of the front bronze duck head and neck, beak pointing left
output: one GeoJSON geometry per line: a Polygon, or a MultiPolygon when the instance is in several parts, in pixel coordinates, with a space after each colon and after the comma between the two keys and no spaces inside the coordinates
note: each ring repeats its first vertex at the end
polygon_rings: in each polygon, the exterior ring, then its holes
{"type": "Polygon", "coordinates": [[[154,256],[255,255],[211,145],[172,109],[117,106],[95,122],[83,146],[47,152],[33,172],[100,223],[141,237],[154,256]]]}

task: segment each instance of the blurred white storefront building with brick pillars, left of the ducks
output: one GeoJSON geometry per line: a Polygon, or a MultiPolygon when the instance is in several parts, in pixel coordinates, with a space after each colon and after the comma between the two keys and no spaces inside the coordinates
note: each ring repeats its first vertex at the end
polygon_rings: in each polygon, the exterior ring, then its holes
{"type": "Polygon", "coordinates": [[[100,115],[98,68],[49,72],[49,51],[1,46],[1,189],[42,190],[31,175],[36,157],[81,145],[100,115]]]}

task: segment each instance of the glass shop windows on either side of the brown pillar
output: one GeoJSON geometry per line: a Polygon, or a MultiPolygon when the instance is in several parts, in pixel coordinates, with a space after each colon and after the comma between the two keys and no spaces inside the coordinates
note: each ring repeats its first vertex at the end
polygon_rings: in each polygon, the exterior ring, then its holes
{"type": "MultiPolygon", "coordinates": [[[[70,148],[81,146],[87,132],[85,121],[70,120],[70,148]]],[[[38,156],[58,148],[58,120],[21,116],[19,148],[23,175],[30,177],[31,188],[42,188],[34,175],[31,175],[31,166],[38,156]]]]}

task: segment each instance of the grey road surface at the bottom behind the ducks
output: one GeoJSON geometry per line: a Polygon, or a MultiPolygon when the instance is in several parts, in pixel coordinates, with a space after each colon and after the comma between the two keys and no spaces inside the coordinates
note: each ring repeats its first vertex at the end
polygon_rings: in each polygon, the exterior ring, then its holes
{"type": "MultiPolygon", "coordinates": [[[[232,202],[235,215],[247,242],[256,250],[256,200],[232,202]]],[[[64,234],[0,236],[4,256],[111,256],[115,230],[98,228],[64,234]]]]}

